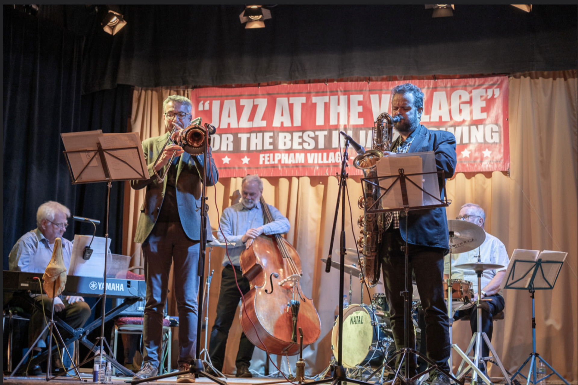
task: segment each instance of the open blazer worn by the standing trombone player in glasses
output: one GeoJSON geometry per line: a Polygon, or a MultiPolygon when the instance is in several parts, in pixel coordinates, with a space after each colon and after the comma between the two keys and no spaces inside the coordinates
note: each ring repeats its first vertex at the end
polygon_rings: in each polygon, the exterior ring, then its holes
{"type": "MultiPolygon", "coordinates": [[[[153,163],[157,160],[162,146],[165,144],[169,133],[161,136],[152,137],[142,142],[144,159],[146,159],[149,179],[142,181],[131,181],[131,187],[135,190],[146,188],[144,201],[140,207],[140,216],[136,225],[135,242],[143,243],[149,237],[155,223],[157,223],[158,214],[161,212],[162,200],[165,196],[166,179],[160,183],[153,171],[153,163]]],[[[165,172],[166,165],[158,173],[162,175],[165,172]]],[[[202,196],[202,172],[203,156],[190,155],[184,152],[179,157],[177,166],[176,194],[177,205],[179,207],[179,216],[181,225],[187,237],[191,240],[198,241],[201,234],[201,196],[202,196]]],[[[210,167],[206,170],[206,184],[212,186],[218,181],[218,171],[213,158],[210,158],[210,167]]],[[[207,240],[212,241],[211,227],[207,217],[207,240]]]]}

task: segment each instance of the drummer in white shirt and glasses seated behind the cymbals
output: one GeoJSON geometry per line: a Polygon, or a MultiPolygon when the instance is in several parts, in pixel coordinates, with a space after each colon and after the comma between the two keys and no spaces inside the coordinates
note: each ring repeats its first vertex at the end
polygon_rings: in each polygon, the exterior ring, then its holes
{"type": "MultiPolygon", "coordinates": [[[[486,214],[484,209],[474,203],[466,203],[461,207],[460,215],[456,218],[466,220],[474,223],[484,229],[486,222],[486,214]]],[[[485,230],[484,230],[485,232],[485,230]]],[[[497,315],[504,309],[504,298],[502,297],[502,290],[500,285],[504,276],[506,275],[506,268],[509,263],[509,258],[506,252],[506,247],[498,238],[486,233],[486,240],[479,246],[479,248],[465,253],[455,253],[451,255],[451,279],[463,279],[472,282],[473,301],[477,300],[477,274],[473,270],[463,270],[455,267],[455,265],[465,263],[476,263],[477,257],[480,255],[481,263],[498,264],[503,268],[496,270],[486,270],[481,275],[481,326],[480,331],[485,332],[490,341],[492,339],[492,317],[497,315]]],[[[444,279],[449,278],[450,271],[449,255],[444,259],[444,279]]],[[[458,309],[455,312],[454,320],[458,320],[466,315],[472,313],[475,306],[469,306],[466,309],[458,309]]],[[[477,317],[475,314],[470,315],[470,327],[472,334],[477,331],[477,317]]],[[[482,357],[488,357],[490,351],[485,343],[482,344],[482,357]]],[[[485,372],[485,368],[481,368],[485,372]]]]}

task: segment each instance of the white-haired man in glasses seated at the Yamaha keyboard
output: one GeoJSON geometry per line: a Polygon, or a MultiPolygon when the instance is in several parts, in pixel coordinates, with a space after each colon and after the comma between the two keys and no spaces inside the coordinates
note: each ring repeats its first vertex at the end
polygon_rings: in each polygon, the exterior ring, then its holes
{"type": "MultiPolygon", "coordinates": [[[[70,215],[70,210],[58,202],[48,201],[40,205],[36,212],[36,225],[38,227],[20,237],[12,251],[10,251],[8,257],[10,270],[42,274],[52,258],[56,238],[61,238],[62,240],[62,257],[64,258],[64,266],[68,269],[71,263],[72,242],[62,238],[62,236],[64,231],[66,231],[66,226],[68,226],[66,220],[70,215]]],[[[52,309],[51,299],[46,295],[36,295],[35,300],[42,302],[46,317],[49,317],[52,309]]],[[[17,297],[12,299],[11,304],[23,308],[24,311],[32,312],[28,331],[28,346],[32,346],[32,343],[36,341],[36,338],[46,326],[45,315],[42,311],[32,308],[29,302],[17,297]]],[[[90,306],[84,302],[84,298],[78,296],[66,296],[64,299],[55,297],[54,311],[60,319],[72,328],[84,326],[91,313],[90,306]]],[[[42,335],[42,340],[34,348],[35,350],[46,347],[46,335],[47,331],[42,335]]],[[[55,367],[62,368],[58,353],[54,354],[53,362],[55,362],[55,367]]],[[[28,373],[30,375],[40,375],[42,369],[40,369],[39,365],[35,365],[33,368],[28,368],[28,373]]]]}

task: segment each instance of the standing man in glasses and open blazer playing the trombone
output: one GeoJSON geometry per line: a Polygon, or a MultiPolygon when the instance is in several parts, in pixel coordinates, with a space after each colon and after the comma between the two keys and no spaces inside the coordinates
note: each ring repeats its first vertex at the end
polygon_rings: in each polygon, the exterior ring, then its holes
{"type": "MultiPolygon", "coordinates": [[[[199,276],[199,238],[201,232],[202,175],[208,186],[217,183],[218,171],[209,147],[208,167],[202,155],[190,155],[175,144],[179,133],[191,124],[191,100],[171,95],[163,103],[167,132],[142,143],[150,178],[131,181],[131,187],[146,188],[135,242],[142,244],[146,306],[144,308],[143,365],[135,379],[157,375],[162,341],[162,311],[168,295],[169,274],[173,264],[175,296],[179,311],[179,371],[189,369],[195,358],[199,276]],[[169,135],[173,143],[162,150],[169,135]],[[162,150],[162,152],[161,152],[162,150]],[[171,161],[172,155],[175,157],[171,161]],[[158,161],[157,161],[158,159],[158,161]],[[168,171],[164,175],[166,168],[168,171]]],[[[208,224],[209,220],[207,220],[208,224]]],[[[212,240],[210,226],[206,235],[212,240]]],[[[192,373],[180,375],[177,382],[195,382],[192,373]]]]}

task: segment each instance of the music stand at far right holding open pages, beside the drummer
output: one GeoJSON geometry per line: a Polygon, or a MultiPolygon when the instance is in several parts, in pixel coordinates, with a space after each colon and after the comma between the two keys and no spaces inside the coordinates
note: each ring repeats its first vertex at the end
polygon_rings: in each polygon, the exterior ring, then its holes
{"type": "Polygon", "coordinates": [[[544,358],[540,357],[540,354],[536,353],[536,317],[535,317],[535,306],[534,306],[534,291],[535,290],[551,290],[554,289],[554,285],[558,279],[558,274],[560,274],[560,270],[562,268],[562,261],[556,260],[542,260],[538,259],[536,261],[528,261],[528,260],[514,260],[514,265],[510,274],[507,276],[506,285],[504,286],[505,289],[516,289],[516,290],[528,290],[530,293],[530,297],[532,298],[532,353],[530,353],[529,357],[526,358],[524,363],[521,365],[520,368],[514,373],[514,375],[510,378],[510,380],[514,380],[514,378],[519,374],[520,376],[524,377],[527,380],[526,385],[532,383],[533,385],[538,384],[539,380],[536,377],[536,364],[538,364],[538,360],[544,363],[552,372],[543,377],[542,380],[546,380],[551,375],[557,375],[566,385],[570,385],[568,381],[564,379],[555,369],[548,363],[544,358]],[[555,265],[558,265],[558,270],[555,271],[553,274],[553,279],[549,276],[544,274],[544,266],[550,265],[551,270],[555,265]],[[523,274],[517,275],[516,274],[516,267],[522,270],[523,274]],[[520,278],[517,278],[520,277],[520,278]],[[551,281],[551,282],[550,282],[551,281]],[[536,285],[535,285],[536,283],[536,285]],[[528,376],[524,376],[521,371],[525,367],[526,364],[530,362],[530,367],[528,369],[528,376]],[[532,379],[531,377],[532,376],[532,379]]]}

